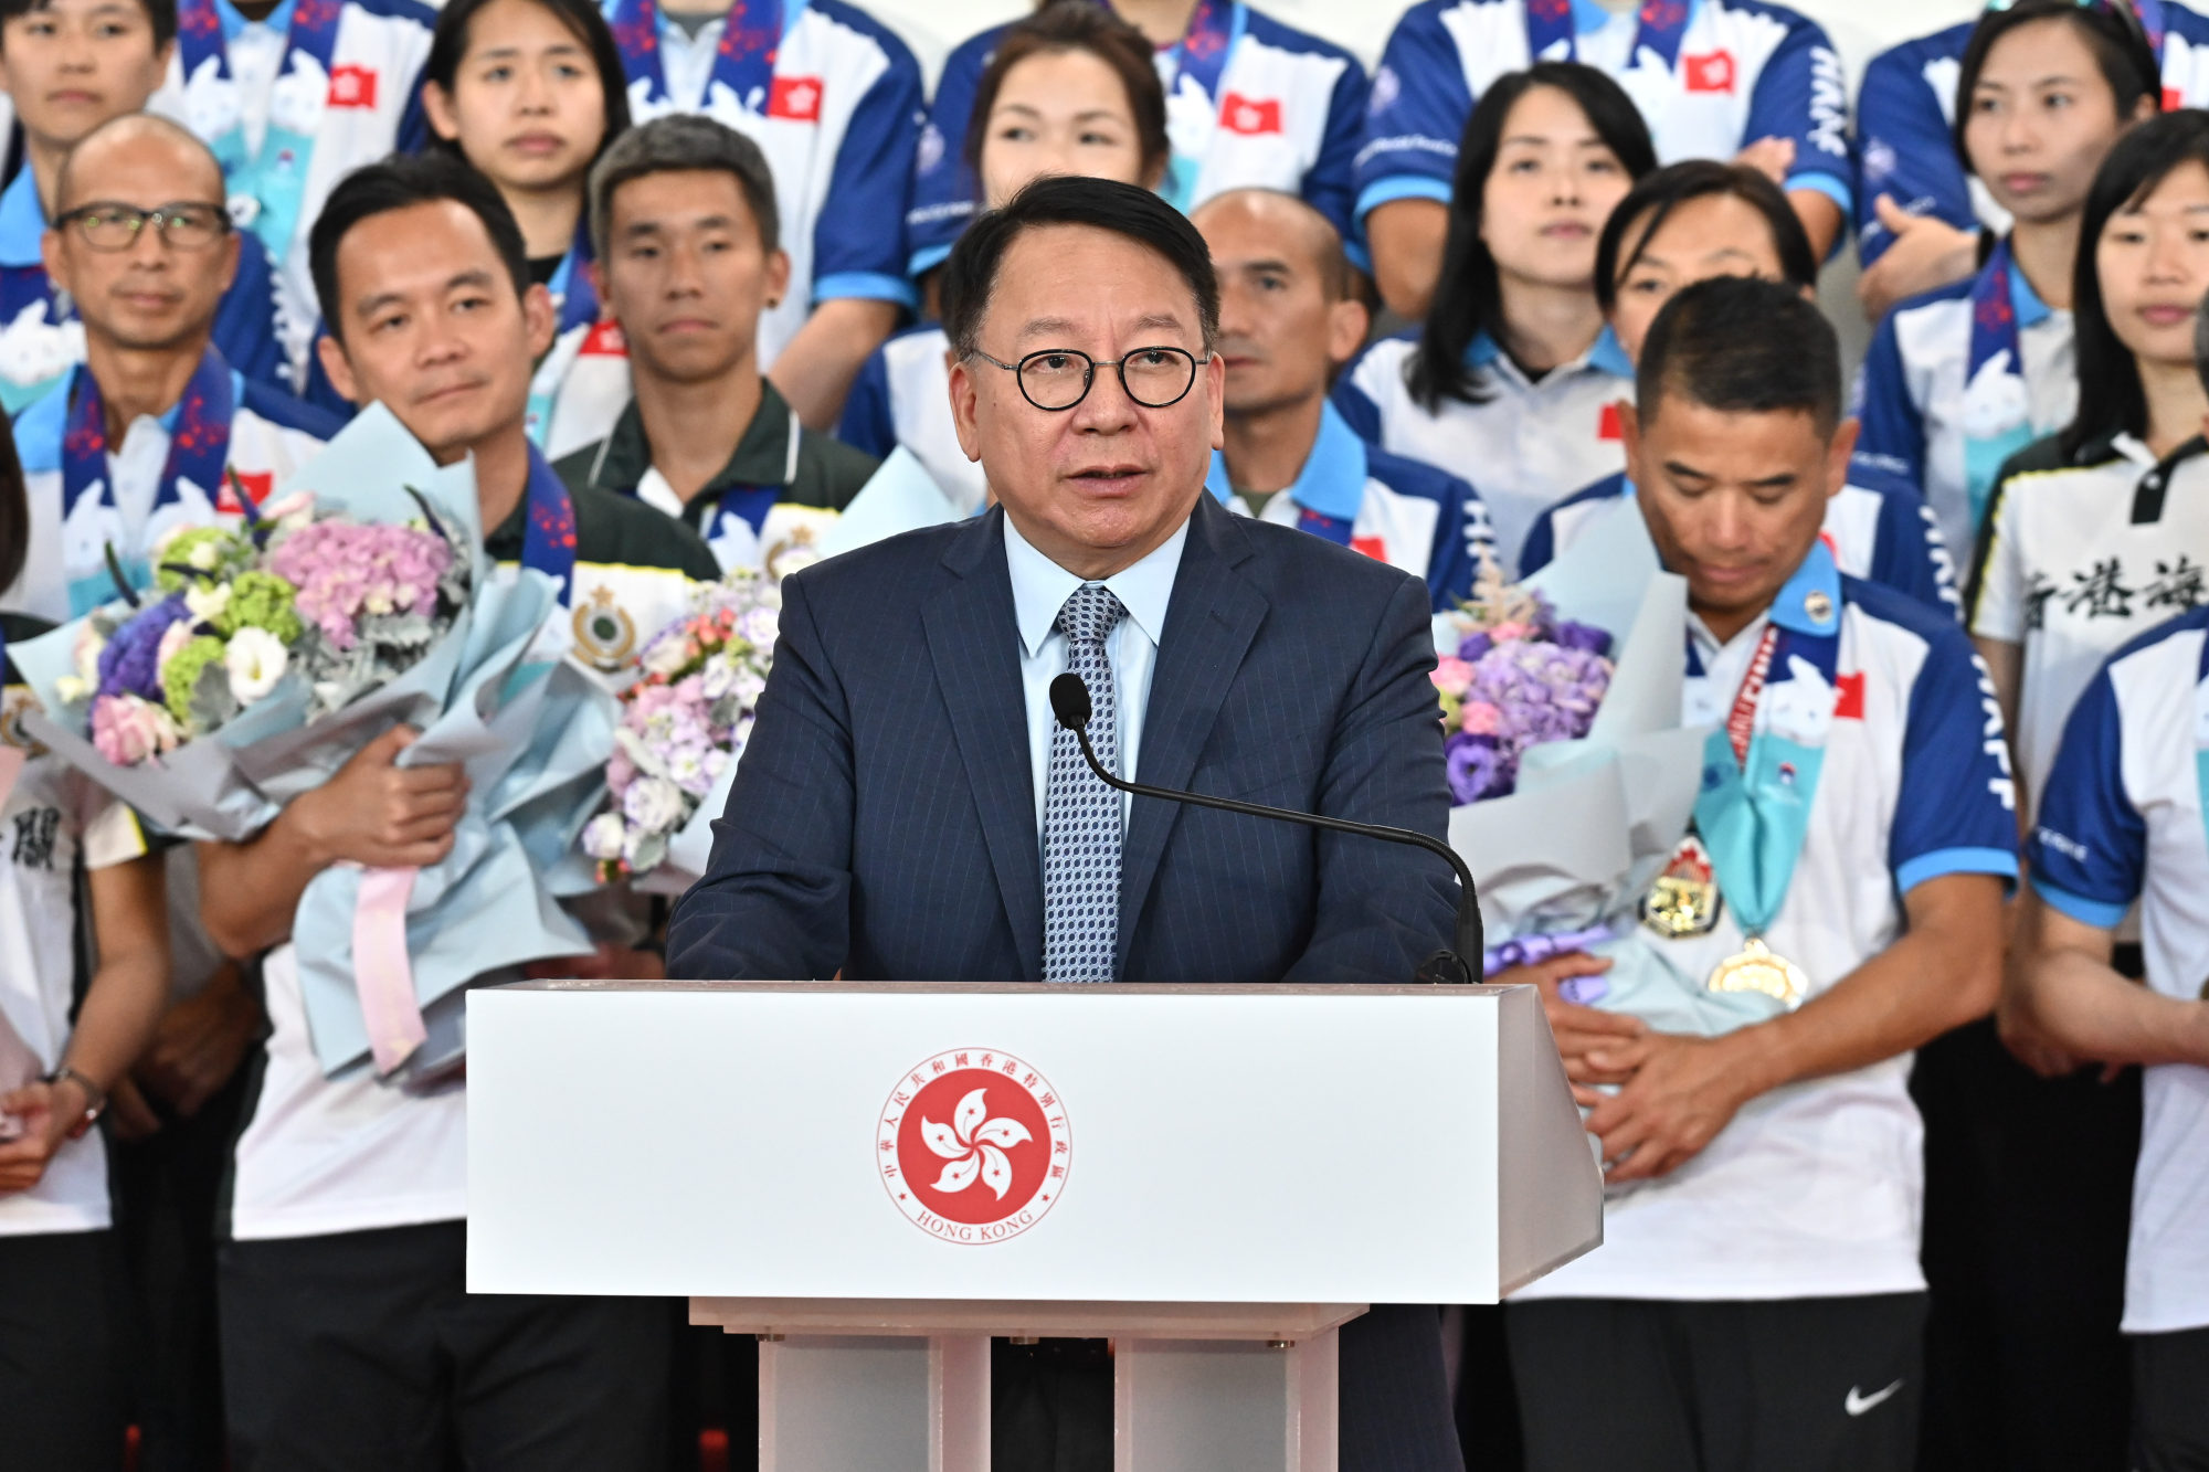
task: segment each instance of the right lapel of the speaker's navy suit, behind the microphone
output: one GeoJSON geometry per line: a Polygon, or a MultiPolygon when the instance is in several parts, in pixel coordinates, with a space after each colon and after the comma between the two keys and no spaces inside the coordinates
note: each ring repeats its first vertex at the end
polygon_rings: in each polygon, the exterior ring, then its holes
{"type": "MultiPolygon", "coordinates": [[[[1197,756],[1213,734],[1228,685],[1259,623],[1266,621],[1266,595],[1235,570],[1248,557],[1250,542],[1235,526],[1235,515],[1217,506],[1211,495],[1199,495],[1188,519],[1182,568],[1173,577],[1158,667],[1151,672],[1151,698],[1142,712],[1142,743],[1135,756],[1140,782],[1188,787],[1188,774],[1197,769],[1197,756]]],[[[1127,844],[1120,849],[1122,966],[1129,937],[1135,935],[1135,924],[1151,900],[1158,860],[1180,816],[1180,802],[1135,798],[1127,844]]]]}

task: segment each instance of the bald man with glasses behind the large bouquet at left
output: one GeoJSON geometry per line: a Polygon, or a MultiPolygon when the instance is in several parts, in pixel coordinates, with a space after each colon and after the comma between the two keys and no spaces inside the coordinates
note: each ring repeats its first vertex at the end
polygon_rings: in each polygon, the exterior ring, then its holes
{"type": "Polygon", "coordinates": [[[84,318],[84,362],[15,420],[33,550],[0,606],[68,619],[115,597],[108,548],[148,586],[166,533],[245,515],[334,427],[212,340],[241,241],[205,144],[117,117],[71,150],[55,206],[46,272],[84,318]]]}

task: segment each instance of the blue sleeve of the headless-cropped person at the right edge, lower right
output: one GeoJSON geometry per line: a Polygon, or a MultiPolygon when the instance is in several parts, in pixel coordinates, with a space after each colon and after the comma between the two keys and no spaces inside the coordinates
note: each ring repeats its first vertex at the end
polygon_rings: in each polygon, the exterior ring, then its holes
{"type": "Polygon", "coordinates": [[[2114,930],[2141,897],[2147,822],[2125,791],[2125,721],[2107,665],[2063,723],[2026,858],[2039,897],[2096,930],[2114,930]]]}

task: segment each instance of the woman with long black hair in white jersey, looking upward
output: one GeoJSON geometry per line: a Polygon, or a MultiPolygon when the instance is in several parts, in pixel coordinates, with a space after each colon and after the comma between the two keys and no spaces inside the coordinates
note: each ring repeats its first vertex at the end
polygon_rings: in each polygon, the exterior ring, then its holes
{"type": "Polygon", "coordinates": [[[1544,506],[1624,466],[1615,407],[1632,365],[1595,301],[1595,241],[1652,168],[1641,115],[1593,66],[1495,82],[1458,146],[1425,327],[1372,345],[1334,391],[1367,442],[1454,475],[1478,466],[1507,564],[1544,506]]]}

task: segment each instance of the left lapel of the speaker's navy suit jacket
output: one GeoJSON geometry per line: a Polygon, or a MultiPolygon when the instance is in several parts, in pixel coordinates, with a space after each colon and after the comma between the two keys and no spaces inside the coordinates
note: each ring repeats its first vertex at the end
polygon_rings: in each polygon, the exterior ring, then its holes
{"type": "MultiPolygon", "coordinates": [[[[974,789],[996,889],[1021,948],[1021,975],[1040,979],[1043,860],[1003,517],[1003,511],[976,517],[943,555],[943,566],[956,572],[956,581],[921,606],[921,623],[959,758],[974,789]]],[[[926,862],[926,855],[917,855],[917,862],[926,862]]]]}

